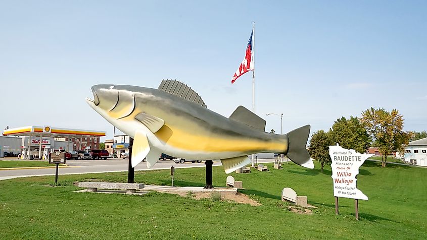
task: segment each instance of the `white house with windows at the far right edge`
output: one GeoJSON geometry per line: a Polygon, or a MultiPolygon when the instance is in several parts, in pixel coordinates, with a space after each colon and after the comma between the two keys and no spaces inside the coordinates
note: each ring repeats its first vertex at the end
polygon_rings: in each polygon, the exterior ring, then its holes
{"type": "Polygon", "coordinates": [[[405,161],[418,166],[427,166],[427,138],[409,142],[405,151],[405,161]]]}

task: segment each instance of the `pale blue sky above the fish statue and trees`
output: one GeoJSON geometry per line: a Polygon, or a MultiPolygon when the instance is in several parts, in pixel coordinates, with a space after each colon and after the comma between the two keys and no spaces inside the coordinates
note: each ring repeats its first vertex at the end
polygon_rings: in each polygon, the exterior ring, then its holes
{"type": "Polygon", "coordinates": [[[113,127],[85,102],[95,84],[176,79],[208,108],[252,108],[231,85],[255,22],[255,111],[266,131],[397,108],[427,130],[425,1],[0,1],[0,127],[113,127]]]}

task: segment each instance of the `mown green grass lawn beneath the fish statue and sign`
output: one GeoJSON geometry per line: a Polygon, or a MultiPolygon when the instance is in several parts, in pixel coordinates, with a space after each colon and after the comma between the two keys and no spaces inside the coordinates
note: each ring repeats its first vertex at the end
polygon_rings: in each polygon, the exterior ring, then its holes
{"type": "MultiPolygon", "coordinates": [[[[0,181],[0,239],[427,239],[427,169],[365,162],[359,189],[369,201],[340,198],[335,215],[330,167],[320,173],[293,163],[283,170],[232,173],[262,206],[178,195],[73,193],[81,181],[126,182],[127,173],[60,175],[0,181]],[[291,187],[317,206],[312,215],[288,210],[281,190],[291,187]]],[[[176,186],[204,186],[204,168],[175,169],[176,186]]],[[[135,182],[171,185],[169,170],[135,172],[135,182]]],[[[225,186],[213,167],[214,186],[225,186]]]]}

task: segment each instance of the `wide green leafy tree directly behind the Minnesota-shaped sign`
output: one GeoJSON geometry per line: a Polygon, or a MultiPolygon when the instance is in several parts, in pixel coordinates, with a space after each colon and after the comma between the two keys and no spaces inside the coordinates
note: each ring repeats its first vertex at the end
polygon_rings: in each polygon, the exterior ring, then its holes
{"type": "Polygon", "coordinates": [[[338,143],[343,148],[354,149],[359,153],[365,153],[371,143],[366,129],[354,116],[350,116],[350,119],[344,116],[338,118],[329,133],[332,145],[338,143]]]}

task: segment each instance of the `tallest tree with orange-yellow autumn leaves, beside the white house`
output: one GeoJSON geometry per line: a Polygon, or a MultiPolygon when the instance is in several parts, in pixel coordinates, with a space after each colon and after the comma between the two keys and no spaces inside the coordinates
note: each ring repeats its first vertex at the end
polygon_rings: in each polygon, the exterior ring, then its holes
{"type": "Polygon", "coordinates": [[[383,167],[386,167],[387,155],[393,151],[403,155],[409,139],[413,136],[412,132],[403,131],[403,116],[397,109],[389,112],[384,108],[371,107],[362,112],[361,122],[381,154],[383,167]]]}

